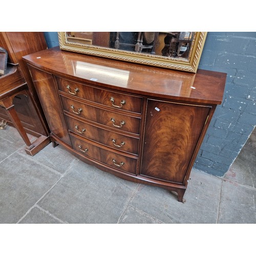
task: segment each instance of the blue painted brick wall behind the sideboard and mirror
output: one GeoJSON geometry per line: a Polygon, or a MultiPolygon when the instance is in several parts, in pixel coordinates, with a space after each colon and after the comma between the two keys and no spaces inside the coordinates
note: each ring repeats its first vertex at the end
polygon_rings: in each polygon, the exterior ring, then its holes
{"type": "MultiPolygon", "coordinates": [[[[45,32],[49,48],[57,32],[45,32]]],[[[208,32],[199,69],[227,73],[223,102],[217,106],[194,167],[222,177],[256,125],[256,32],[208,32]]]]}

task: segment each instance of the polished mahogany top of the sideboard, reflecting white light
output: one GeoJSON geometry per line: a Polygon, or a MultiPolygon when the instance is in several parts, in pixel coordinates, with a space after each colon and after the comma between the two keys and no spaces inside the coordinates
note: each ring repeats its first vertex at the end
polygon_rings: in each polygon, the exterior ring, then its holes
{"type": "Polygon", "coordinates": [[[226,74],[221,72],[198,70],[191,74],[62,51],[59,47],[23,58],[39,69],[104,84],[104,88],[186,102],[221,104],[226,81],[226,74]]]}

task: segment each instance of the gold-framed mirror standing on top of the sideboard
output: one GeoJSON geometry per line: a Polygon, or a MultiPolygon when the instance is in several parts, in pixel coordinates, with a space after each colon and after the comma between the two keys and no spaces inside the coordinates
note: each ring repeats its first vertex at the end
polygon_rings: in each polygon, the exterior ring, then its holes
{"type": "Polygon", "coordinates": [[[58,32],[61,50],[196,73],[207,32],[58,32]]]}

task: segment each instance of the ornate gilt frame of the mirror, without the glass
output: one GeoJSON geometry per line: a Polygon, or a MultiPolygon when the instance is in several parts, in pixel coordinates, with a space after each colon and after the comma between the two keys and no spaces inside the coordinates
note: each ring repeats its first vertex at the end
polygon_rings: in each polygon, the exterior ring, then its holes
{"type": "Polygon", "coordinates": [[[174,58],[144,52],[133,52],[82,44],[79,40],[69,40],[70,37],[67,35],[67,32],[58,32],[58,37],[61,50],[196,73],[206,34],[207,32],[193,32],[188,57],[186,58],[174,58]]]}

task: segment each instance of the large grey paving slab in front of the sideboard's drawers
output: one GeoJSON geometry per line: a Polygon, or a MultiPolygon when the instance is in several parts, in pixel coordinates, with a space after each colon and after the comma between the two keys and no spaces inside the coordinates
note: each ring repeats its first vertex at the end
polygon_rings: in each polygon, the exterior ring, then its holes
{"type": "Polygon", "coordinates": [[[117,223],[136,186],[77,161],[38,205],[68,223],[117,223]]]}

